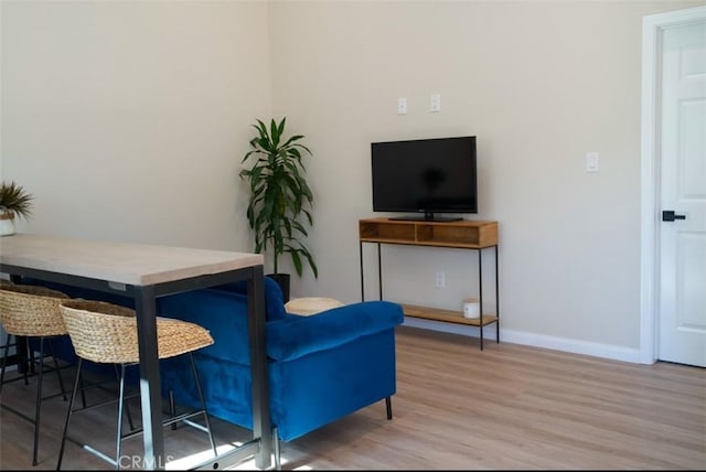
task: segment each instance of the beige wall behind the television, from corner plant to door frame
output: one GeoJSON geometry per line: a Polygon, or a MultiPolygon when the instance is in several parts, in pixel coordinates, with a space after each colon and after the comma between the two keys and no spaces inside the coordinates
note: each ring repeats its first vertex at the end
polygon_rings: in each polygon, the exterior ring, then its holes
{"type": "MultiPolygon", "coordinates": [[[[502,329],[637,350],[642,17],[695,4],[277,3],[275,111],[315,153],[321,276],[295,292],[360,298],[371,141],[475,135],[480,213],[470,217],[500,222],[502,329]],[[588,151],[600,152],[597,174],[585,170],[588,151]]],[[[384,262],[386,298],[460,308],[474,294],[473,253],[386,247],[384,262]],[[446,289],[435,288],[439,270],[446,289]]]]}

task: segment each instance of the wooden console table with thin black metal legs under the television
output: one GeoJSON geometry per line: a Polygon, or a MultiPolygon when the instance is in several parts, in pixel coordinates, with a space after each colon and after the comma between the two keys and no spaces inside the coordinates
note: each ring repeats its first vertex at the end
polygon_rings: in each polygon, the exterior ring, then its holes
{"type": "Polygon", "coordinates": [[[478,326],[480,345],[483,350],[483,326],[495,323],[495,341],[500,343],[500,291],[498,268],[498,222],[459,221],[425,222],[389,218],[368,218],[359,221],[361,251],[361,299],[365,300],[363,276],[363,244],[377,244],[377,270],[379,298],[383,298],[383,261],[381,245],[397,244],[410,246],[451,247],[478,251],[478,285],[480,318],[463,318],[461,311],[403,304],[405,317],[445,321],[449,323],[478,326]],[[494,314],[483,313],[483,271],[481,251],[493,249],[495,253],[495,304],[494,314]]]}

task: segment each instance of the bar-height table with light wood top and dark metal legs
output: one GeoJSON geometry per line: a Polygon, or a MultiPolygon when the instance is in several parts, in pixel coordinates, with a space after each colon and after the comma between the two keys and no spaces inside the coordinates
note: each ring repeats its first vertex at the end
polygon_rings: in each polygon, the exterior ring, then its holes
{"type": "Polygon", "coordinates": [[[247,280],[248,333],[253,376],[253,440],[201,464],[255,455],[255,465],[271,463],[268,385],[265,355],[265,280],[260,254],[119,242],[14,234],[0,238],[0,272],[74,287],[120,293],[135,300],[140,352],[140,395],[145,425],[143,469],[165,468],[160,412],[162,399],[157,355],[156,299],[170,293],[247,280]]]}

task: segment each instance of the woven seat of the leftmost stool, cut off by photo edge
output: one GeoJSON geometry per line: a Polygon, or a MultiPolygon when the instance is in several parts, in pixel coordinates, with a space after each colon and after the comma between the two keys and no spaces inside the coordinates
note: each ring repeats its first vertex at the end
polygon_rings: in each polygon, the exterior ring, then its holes
{"type": "Polygon", "coordinates": [[[45,287],[4,283],[0,287],[0,321],[17,336],[66,334],[60,304],[69,297],[45,287]]]}

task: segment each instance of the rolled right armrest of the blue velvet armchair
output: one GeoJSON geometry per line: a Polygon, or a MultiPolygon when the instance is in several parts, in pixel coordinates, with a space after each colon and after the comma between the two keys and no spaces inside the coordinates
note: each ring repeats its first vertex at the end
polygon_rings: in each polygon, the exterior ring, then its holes
{"type": "Polygon", "coordinates": [[[311,317],[288,315],[267,323],[267,355],[275,361],[291,361],[392,330],[403,320],[402,307],[389,301],[352,303],[311,317]]]}

